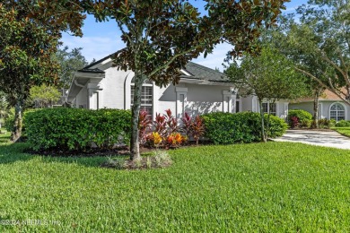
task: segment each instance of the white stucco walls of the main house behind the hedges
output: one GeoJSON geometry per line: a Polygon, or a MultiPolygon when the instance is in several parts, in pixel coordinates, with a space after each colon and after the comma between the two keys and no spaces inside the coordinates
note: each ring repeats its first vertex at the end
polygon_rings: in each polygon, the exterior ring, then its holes
{"type": "MultiPolygon", "coordinates": [[[[99,108],[130,108],[130,82],[134,73],[118,70],[110,65],[102,65],[100,69],[105,71],[105,77],[97,84],[102,90],[90,97],[90,108],[96,108],[97,100],[99,108]]],[[[87,86],[92,84],[87,84],[87,86]]],[[[164,113],[170,108],[173,115],[181,117],[184,112],[191,116],[197,116],[216,111],[235,112],[235,99],[232,96],[232,86],[220,83],[195,84],[179,82],[177,85],[170,84],[166,87],[157,87],[153,84],[153,118],[155,113],[164,113]]],[[[240,111],[258,111],[258,103],[252,96],[237,99],[241,101],[240,111]],[[254,106],[253,106],[254,105],[254,106]]],[[[79,92],[76,99],[76,107],[87,103],[86,87],[79,92]]],[[[284,117],[284,101],[277,104],[277,115],[284,117]]]]}

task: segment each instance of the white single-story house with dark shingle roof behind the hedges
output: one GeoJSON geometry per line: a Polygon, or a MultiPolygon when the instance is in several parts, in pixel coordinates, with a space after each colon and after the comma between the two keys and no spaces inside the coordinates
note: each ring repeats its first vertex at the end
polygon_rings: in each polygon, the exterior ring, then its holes
{"type": "MultiPolygon", "coordinates": [[[[189,62],[179,71],[179,84],[158,87],[153,82],[144,82],[141,108],[154,119],[155,113],[164,113],[170,108],[178,117],[185,112],[191,116],[209,112],[258,112],[255,96],[241,98],[234,85],[223,73],[189,62]]],[[[133,104],[134,73],[112,67],[110,56],[84,67],[74,74],[67,101],[75,108],[130,109],[133,104]]],[[[286,117],[288,102],[264,103],[264,109],[276,116],[286,117]]]]}

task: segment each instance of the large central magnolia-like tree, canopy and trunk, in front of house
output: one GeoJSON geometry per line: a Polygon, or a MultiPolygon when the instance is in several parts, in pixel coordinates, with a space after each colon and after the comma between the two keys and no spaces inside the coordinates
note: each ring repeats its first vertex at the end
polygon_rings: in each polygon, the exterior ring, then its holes
{"type": "Polygon", "coordinates": [[[234,45],[233,56],[257,52],[252,42],[259,29],[275,22],[286,1],[205,2],[204,16],[188,1],[175,0],[104,1],[93,10],[101,21],[115,19],[126,48],[113,57],[114,63],[135,73],[131,160],[140,157],[138,115],[144,81],[160,86],[179,82],[180,68],[223,41],[234,45]]]}

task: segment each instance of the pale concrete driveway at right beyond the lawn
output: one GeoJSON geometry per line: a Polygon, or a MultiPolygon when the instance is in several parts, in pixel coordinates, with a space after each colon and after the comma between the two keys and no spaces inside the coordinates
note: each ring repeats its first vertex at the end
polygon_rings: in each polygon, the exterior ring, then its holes
{"type": "Polygon", "coordinates": [[[311,145],[350,150],[350,138],[335,131],[287,130],[276,142],[302,142],[311,145]]]}

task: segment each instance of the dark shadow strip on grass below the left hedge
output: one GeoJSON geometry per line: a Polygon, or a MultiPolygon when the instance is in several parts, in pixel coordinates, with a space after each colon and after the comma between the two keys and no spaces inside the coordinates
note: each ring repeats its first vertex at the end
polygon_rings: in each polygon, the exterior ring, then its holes
{"type": "MultiPolygon", "coordinates": [[[[2,140],[1,138],[0,140],[2,140]]],[[[2,142],[8,142],[3,141],[2,142]]],[[[29,161],[35,158],[40,158],[42,162],[46,163],[68,163],[68,164],[78,164],[84,167],[94,167],[99,168],[103,162],[105,162],[108,157],[51,157],[35,155],[24,152],[28,150],[29,145],[26,142],[16,142],[11,144],[0,144],[0,164],[10,164],[18,161],[29,161]]]]}

